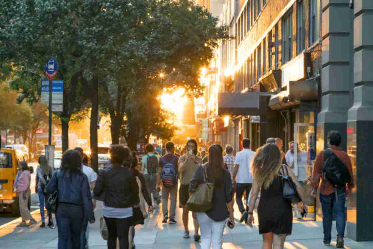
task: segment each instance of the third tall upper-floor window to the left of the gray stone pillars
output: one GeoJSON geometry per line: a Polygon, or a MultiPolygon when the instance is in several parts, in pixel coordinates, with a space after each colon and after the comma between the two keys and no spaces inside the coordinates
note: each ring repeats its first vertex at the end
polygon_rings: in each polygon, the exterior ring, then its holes
{"type": "Polygon", "coordinates": [[[282,18],[282,63],[292,58],[292,11],[282,18]]]}

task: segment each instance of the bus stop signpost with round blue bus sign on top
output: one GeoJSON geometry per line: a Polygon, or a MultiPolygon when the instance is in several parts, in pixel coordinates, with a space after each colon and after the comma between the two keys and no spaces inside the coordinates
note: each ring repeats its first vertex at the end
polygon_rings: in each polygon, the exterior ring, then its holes
{"type": "MultiPolygon", "coordinates": [[[[46,102],[46,95],[47,95],[47,93],[49,93],[48,94],[49,129],[48,129],[48,145],[46,146],[46,156],[47,156],[47,160],[48,160],[48,165],[51,166],[52,169],[54,169],[54,146],[52,146],[52,94],[53,94],[52,79],[57,74],[57,71],[58,71],[57,60],[55,60],[54,58],[50,58],[49,60],[47,60],[46,65],[45,65],[45,70],[44,70],[44,73],[49,78],[49,82],[48,82],[49,84],[47,84],[46,81],[41,82],[42,103],[46,102]],[[47,91],[47,86],[48,86],[48,91],[47,91]]],[[[63,82],[62,82],[62,94],[63,94],[63,82]]],[[[57,95],[60,95],[60,94],[57,94],[57,95]]]]}

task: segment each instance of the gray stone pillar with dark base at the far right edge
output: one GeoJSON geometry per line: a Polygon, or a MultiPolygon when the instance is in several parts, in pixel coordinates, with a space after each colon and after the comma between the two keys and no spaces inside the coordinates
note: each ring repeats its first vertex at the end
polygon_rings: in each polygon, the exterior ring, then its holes
{"type": "Polygon", "coordinates": [[[347,152],[355,188],[348,199],[347,235],[373,240],[373,1],[354,1],[354,105],[348,110],[347,152]]]}

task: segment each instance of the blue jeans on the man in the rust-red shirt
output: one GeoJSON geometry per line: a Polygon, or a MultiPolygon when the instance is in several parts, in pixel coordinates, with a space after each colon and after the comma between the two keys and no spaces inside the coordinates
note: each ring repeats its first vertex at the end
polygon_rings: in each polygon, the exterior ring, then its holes
{"type": "Polygon", "coordinates": [[[333,211],[335,214],[336,228],[338,236],[344,237],[345,226],[346,226],[346,189],[337,189],[338,202],[335,197],[335,193],[329,195],[320,194],[320,202],[323,210],[323,228],[324,228],[324,239],[332,239],[332,220],[333,211]]]}

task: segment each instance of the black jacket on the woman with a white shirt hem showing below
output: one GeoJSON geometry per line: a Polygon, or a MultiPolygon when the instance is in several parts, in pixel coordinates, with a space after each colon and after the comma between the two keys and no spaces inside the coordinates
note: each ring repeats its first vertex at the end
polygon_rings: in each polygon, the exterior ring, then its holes
{"type": "Polygon", "coordinates": [[[112,165],[98,175],[93,193],[100,196],[103,192],[108,207],[129,208],[140,203],[136,178],[122,165],[112,165]]]}

